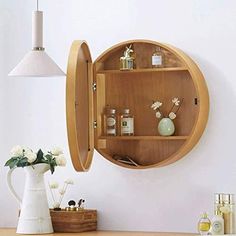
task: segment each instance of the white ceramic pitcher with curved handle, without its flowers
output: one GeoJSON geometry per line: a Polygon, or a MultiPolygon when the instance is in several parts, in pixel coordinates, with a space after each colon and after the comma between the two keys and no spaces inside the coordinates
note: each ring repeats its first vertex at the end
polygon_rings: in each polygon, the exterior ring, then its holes
{"type": "Polygon", "coordinates": [[[49,170],[48,164],[26,166],[26,182],[23,200],[17,195],[12,186],[11,176],[15,168],[9,170],[7,183],[15,198],[20,202],[21,212],[17,226],[18,234],[47,234],[53,233],[44,173],[49,170]]]}

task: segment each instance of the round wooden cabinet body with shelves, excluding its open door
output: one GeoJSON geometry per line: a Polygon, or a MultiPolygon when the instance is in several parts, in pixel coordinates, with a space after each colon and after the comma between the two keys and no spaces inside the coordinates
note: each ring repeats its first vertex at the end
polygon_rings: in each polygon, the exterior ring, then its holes
{"type": "Polygon", "coordinates": [[[106,50],[95,61],[94,68],[94,80],[100,91],[94,95],[95,107],[99,106],[95,119],[101,127],[95,133],[95,147],[105,158],[128,168],[160,167],[179,160],[195,146],[207,123],[209,96],[201,71],[185,53],[154,41],[127,41],[106,50]],[[135,51],[136,69],[120,71],[119,58],[130,44],[133,44],[135,51]],[[160,46],[165,54],[164,68],[151,68],[150,59],[156,46],[160,46]],[[101,93],[102,99],[99,97],[101,93]],[[158,121],[150,108],[152,100],[162,101],[163,112],[167,115],[173,97],[184,99],[174,120],[174,135],[187,138],[151,138],[158,134],[158,121]],[[106,106],[118,111],[124,108],[131,110],[135,117],[137,138],[101,138],[104,135],[102,112],[106,106]],[[128,155],[140,166],[117,162],[112,158],[114,154],[128,155]]]}

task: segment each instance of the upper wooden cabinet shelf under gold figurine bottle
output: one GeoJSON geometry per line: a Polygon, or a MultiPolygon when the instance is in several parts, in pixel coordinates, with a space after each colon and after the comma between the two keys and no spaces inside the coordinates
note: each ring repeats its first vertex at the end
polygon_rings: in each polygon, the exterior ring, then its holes
{"type": "Polygon", "coordinates": [[[123,74],[123,73],[145,73],[145,72],[169,72],[169,71],[187,71],[186,67],[163,67],[163,68],[143,68],[134,70],[100,70],[98,74],[123,74]]]}

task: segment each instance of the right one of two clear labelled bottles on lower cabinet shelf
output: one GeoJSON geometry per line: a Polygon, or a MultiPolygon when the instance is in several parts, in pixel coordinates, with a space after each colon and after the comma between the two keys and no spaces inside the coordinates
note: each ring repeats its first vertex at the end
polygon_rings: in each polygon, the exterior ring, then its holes
{"type": "Polygon", "coordinates": [[[120,135],[134,135],[134,117],[130,114],[129,109],[124,109],[120,116],[120,135]]]}

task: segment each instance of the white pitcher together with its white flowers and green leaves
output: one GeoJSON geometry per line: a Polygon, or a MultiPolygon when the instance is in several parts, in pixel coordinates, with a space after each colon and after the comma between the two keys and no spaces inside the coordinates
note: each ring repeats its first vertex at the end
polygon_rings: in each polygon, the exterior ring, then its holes
{"type": "Polygon", "coordinates": [[[65,165],[66,159],[60,148],[54,148],[46,152],[39,149],[37,153],[19,145],[12,148],[11,158],[5,166],[10,167],[7,175],[9,189],[21,205],[17,233],[46,234],[53,232],[44,184],[44,173],[48,170],[53,173],[56,166],[65,165]],[[16,194],[11,182],[11,176],[16,167],[23,167],[26,173],[23,200],[16,194]]]}

